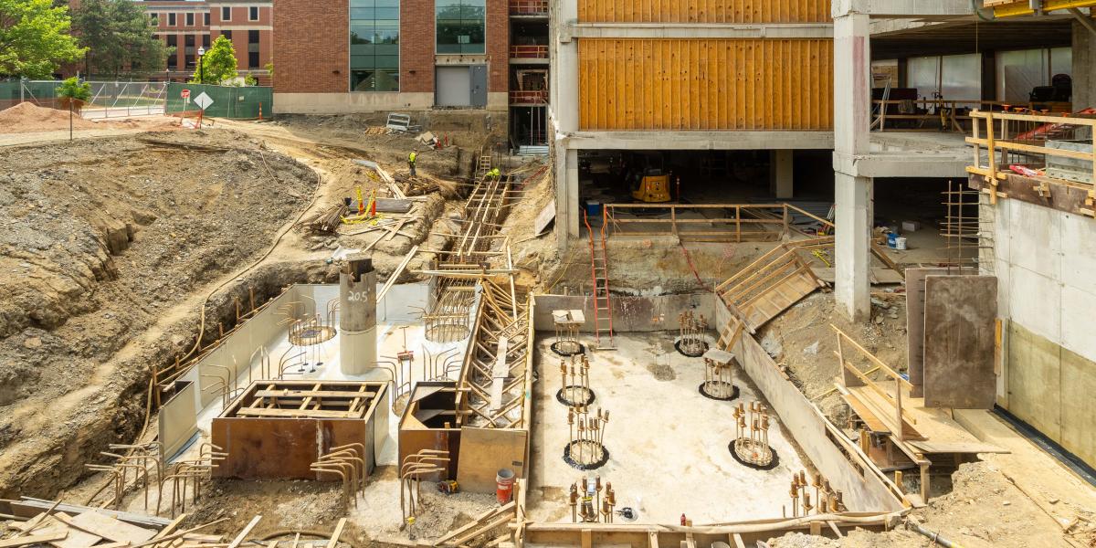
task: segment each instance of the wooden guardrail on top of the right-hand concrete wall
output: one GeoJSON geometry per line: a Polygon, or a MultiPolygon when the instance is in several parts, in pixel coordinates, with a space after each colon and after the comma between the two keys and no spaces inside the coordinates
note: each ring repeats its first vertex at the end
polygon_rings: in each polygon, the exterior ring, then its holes
{"type": "MultiPolygon", "coordinates": [[[[1093,201],[1092,185],[1096,183],[1096,146],[1093,146],[1096,142],[1093,140],[1093,135],[1096,134],[1096,118],[980,111],[972,112],[971,117],[982,122],[977,122],[972,127],[972,136],[967,137],[967,142],[974,147],[974,161],[972,165],[967,167],[967,172],[986,178],[991,186],[987,190],[991,204],[997,202],[997,181],[1005,179],[1006,172],[1016,171],[1019,174],[1046,176],[1038,170],[1046,165],[1048,157],[1092,162],[1089,169],[1093,170],[1093,179],[1088,183],[1088,202],[1093,201]],[[1088,151],[1046,146],[1049,137],[1063,133],[1070,135],[1060,138],[1077,137],[1073,129],[1084,126],[1088,127],[1086,138],[1092,147],[1088,151]],[[987,165],[982,165],[983,148],[987,152],[987,165]],[[1031,173],[1026,173],[1019,168],[1013,170],[1012,165],[1023,165],[1031,173]]],[[[1084,183],[1073,182],[1073,184],[1084,183]]]]}

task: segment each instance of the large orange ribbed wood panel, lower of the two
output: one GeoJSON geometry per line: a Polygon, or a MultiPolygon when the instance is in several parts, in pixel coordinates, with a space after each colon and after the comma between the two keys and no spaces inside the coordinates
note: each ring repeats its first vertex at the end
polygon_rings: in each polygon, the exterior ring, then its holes
{"type": "Polygon", "coordinates": [[[582,129],[833,128],[831,39],[579,41],[582,129]]]}

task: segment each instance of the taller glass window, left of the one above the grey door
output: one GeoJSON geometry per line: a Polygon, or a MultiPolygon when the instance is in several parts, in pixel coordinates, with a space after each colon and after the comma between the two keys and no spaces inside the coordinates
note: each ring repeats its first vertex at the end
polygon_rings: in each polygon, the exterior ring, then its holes
{"type": "Polygon", "coordinates": [[[350,89],[400,90],[400,0],[350,0],[350,89]]]}

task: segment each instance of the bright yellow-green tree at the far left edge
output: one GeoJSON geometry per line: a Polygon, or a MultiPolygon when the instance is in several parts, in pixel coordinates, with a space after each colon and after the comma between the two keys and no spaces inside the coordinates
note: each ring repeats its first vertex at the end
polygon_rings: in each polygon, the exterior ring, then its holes
{"type": "Polygon", "coordinates": [[[0,76],[49,78],[79,59],[70,27],[68,8],[52,0],[0,0],[0,76]]]}

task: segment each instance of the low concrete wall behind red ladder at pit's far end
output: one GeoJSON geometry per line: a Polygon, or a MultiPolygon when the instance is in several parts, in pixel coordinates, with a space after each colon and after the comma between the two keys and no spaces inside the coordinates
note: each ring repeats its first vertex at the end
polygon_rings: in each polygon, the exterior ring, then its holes
{"type": "MultiPolygon", "coordinates": [[[[537,295],[536,315],[533,323],[537,331],[555,331],[552,310],[582,310],[586,322],[582,326],[583,333],[594,332],[594,301],[591,296],[583,295],[537,295]]],[[[693,313],[708,319],[711,329],[716,329],[715,299],[710,293],[693,295],[660,295],[657,297],[614,296],[613,329],[620,332],[666,331],[678,329],[677,315],[687,309],[693,313]]]]}

